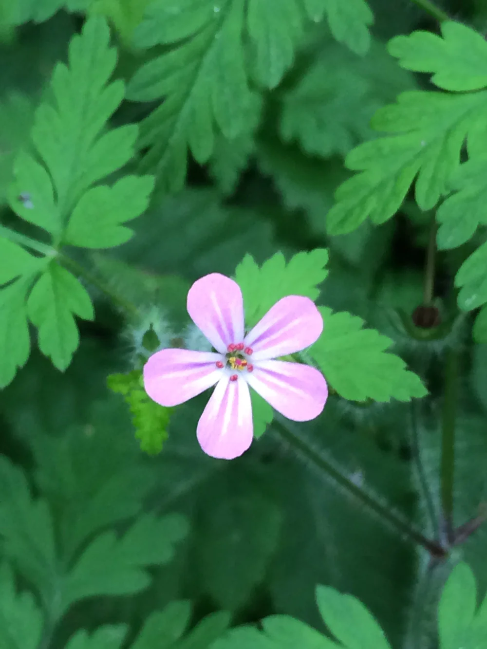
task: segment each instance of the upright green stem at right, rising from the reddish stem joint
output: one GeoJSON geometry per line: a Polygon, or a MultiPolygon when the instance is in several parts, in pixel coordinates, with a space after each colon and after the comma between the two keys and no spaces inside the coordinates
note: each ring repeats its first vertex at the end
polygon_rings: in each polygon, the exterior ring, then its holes
{"type": "Polygon", "coordinates": [[[455,481],[455,411],[458,353],[449,349],[445,360],[445,390],[442,411],[442,456],[440,491],[447,538],[453,543],[453,486],[455,481]]]}

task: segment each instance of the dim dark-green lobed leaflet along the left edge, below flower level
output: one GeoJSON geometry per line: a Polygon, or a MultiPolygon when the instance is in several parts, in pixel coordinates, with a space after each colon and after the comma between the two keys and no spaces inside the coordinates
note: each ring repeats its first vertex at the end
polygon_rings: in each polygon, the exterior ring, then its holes
{"type": "Polygon", "coordinates": [[[47,602],[53,596],[57,572],[53,521],[47,504],[32,500],[23,471],[5,456],[0,456],[0,492],[3,552],[47,602]]]}

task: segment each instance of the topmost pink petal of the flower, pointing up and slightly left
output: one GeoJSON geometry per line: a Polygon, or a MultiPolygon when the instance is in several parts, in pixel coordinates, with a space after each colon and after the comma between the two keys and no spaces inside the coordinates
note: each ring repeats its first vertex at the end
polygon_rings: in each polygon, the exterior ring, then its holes
{"type": "Polygon", "coordinates": [[[229,277],[212,273],[197,280],[188,291],[188,313],[221,354],[243,341],[242,291],[229,277]]]}

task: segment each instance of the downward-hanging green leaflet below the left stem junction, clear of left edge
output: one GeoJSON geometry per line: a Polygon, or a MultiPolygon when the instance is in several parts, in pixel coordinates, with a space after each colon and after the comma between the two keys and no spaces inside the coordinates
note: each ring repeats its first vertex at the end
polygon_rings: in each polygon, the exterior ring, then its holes
{"type": "Polygon", "coordinates": [[[37,280],[27,300],[29,319],[38,328],[39,349],[64,371],[79,345],[75,315],[94,318],[92,300],[80,282],[55,262],[37,280]]]}

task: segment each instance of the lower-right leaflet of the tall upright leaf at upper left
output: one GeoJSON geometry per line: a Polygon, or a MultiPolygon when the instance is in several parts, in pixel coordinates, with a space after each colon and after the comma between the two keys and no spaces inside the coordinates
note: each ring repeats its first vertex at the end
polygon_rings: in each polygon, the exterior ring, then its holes
{"type": "Polygon", "coordinates": [[[64,240],[84,248],[125,243],[133,232],[122,224],[145,212],[153,186],[152,176],[125,176],[112,187],[88,190],[69,218],[64,240]]]}

